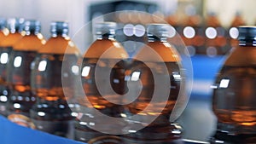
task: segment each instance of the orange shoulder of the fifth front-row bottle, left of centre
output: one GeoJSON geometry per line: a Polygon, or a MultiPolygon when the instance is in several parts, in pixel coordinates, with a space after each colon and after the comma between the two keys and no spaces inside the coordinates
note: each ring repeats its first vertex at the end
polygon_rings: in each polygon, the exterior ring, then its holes
{"type": "Polygon", "coordinates": [[[96,40],[85,51],[86,58],[112,58],[126,59],[129,55],[126,53],[123,46],[115,40],[102,39],[96,40]]]}

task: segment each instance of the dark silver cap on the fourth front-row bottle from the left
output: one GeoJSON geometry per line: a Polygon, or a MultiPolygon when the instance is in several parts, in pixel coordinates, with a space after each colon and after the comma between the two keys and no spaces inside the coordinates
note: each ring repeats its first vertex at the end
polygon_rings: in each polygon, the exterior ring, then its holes
{"type": "Polygon", "coordinates": [[[50,24],[50,32],[54,35],[67,35],[68,23],[64,21],[54,21],[50,24]]]}

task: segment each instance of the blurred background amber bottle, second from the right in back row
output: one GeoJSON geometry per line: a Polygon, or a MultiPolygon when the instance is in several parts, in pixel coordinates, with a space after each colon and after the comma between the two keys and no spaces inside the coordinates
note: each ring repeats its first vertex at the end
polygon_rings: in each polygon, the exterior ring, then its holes
{"type": "Polygon", "coordinates": [[[214,57],[216,55],[224,55],[228,51],[227,32],[224,27],[221,26],[217,15],[213,12],[207,15],[205,35],[206,55],[214,57]]]}

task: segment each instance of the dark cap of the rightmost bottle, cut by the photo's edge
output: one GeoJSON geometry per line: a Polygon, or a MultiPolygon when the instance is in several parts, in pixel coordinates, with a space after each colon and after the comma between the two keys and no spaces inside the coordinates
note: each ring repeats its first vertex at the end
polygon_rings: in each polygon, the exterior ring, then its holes
{"type": "Polygon", "coordinates": [[[255,39],[256,38],[256,26],[238,26],[238,39],[255,39]]]}

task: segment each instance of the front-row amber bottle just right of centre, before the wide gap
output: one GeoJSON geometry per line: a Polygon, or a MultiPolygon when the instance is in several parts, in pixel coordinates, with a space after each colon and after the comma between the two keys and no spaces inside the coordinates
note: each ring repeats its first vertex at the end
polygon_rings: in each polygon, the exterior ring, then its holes
{"type": "Polygon", "coordinates": [[[123,136],[125,144],[183,143],[181,127],[169,119],[177,96],[183,90],[184,77],[180,69],[181,59],[167,42],[168,28],[166,24],[148,25],[148,43],[132,63],[129,83],[142,89],[139,95],[129,95],[137,97],[125,111],[130,112],[126,114],[127,119],[135,126],[128,130],[130,134],[123,136]],[[162,84],[170,85],[165,87],[162,84]],[[137,118],[133,119],[132,115],[137,115],[137,118]],[[143,122],[154,116],[156,118],[151,123],[143,122]],[[142,130],[135,130],[142,125],[145,126],[142,130]]]}

